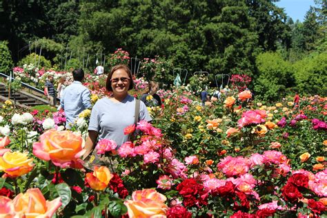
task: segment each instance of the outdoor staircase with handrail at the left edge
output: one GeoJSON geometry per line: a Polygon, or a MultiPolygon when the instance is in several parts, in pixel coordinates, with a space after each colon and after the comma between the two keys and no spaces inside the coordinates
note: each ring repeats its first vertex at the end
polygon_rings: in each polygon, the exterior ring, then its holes
{"type": "MultiPolygon", "coordinates": [[[[12,92],[10,100],[14,101],[17,106],[22,108],[30,108],[32,106],[38,106],[41,104],[48,104],[46,99],[43,99],[39,93],[27,92],[25,90],[19,90],[12,92]]],[[[9,91],[6,88],[5,83],[0,83],[0,101],[6,101],[9,98],[9,91]]]]}

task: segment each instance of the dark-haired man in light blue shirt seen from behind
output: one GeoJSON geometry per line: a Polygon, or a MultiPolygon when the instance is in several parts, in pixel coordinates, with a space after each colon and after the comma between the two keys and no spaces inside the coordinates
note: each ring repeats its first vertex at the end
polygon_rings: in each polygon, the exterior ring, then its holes
{"type": "Polygon", "coordinates": [[[77,69],[72,72],[74,81],[65,88],[63,97],[60,99],[61,108],[66,114],[66,128],[70,129],[78,115],[91,108],[90,90],[83,86],[84,71],[77,69]]]}

